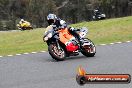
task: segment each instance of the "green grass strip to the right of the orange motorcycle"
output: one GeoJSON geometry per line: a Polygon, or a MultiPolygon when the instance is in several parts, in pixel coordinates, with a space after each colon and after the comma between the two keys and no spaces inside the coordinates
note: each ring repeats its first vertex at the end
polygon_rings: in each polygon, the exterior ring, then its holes
{"type": "Polygon", "coordinates": [[[132,16],[96,22],[82,22],[72,26],[89,28],[87,37],[92,39],[95,44],[132,40],[132,16]]]}

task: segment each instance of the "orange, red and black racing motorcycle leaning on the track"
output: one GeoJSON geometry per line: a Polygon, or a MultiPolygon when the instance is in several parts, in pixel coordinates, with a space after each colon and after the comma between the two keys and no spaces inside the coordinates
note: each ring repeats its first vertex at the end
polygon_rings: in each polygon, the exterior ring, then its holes
{"type": "Polygon", "coordinates": [[[81,41],[77,36],[72,35],[67,28],[53,30],[52,26],[48,27],[48,31],[43,36],[43,41],[47,43],[51,57],[56,61],[63,61],[66,57],[79,55],[79,52],[86,57],[93,57],[96,53],[96,47],[90,39],[85,38],[88,29],[83,27],[77,30],[77,33],[81,37],[81,41]],[[61,35],[61,33],[64,34],[61,35]],[[69,45],[62,42],[64,38],[61,40],[61,37],[66,37],[65,35],[72,36],[72,40],[68,42],[69,45]]]}

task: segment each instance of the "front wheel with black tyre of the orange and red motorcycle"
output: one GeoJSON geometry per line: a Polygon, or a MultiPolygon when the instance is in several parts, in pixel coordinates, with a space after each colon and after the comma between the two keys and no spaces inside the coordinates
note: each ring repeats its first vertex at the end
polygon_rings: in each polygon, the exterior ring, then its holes
{"type": "Polygon", "coordinates": [[[48,46],[48,51],[49,51],[49,54],[51,55],[51,57],[53,59],[55,59],[56,61],[63,61],[66,57],[66,53],[65,53],[64,49],[62,47],[60,47],[60,49],[58,49],[56,44],[50,44],[48,46]]]}

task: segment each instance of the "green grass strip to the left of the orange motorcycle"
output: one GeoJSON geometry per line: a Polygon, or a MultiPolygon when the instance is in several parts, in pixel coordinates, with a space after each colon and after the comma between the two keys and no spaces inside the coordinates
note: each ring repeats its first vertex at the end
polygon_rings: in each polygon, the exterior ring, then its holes
{"type": "Polygon", "coordinates": [[[41,51],[46,49],[44,29],[0,33],[0,55],[41,51]]]}

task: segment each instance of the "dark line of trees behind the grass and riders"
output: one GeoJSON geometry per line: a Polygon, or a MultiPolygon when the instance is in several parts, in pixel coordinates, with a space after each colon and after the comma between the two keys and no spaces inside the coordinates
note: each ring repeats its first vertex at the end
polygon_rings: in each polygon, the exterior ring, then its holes
{"type": "Polygon", "coordinates": [[[21,18],[33,27],[46,27],[55,13],[67,23],[91,21],[98,8],[107,18],[132,15],[132,0],[0,0],[0,30],[14,30],[21,18]]]}

